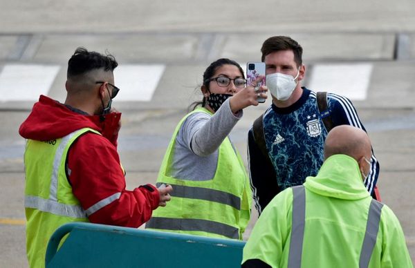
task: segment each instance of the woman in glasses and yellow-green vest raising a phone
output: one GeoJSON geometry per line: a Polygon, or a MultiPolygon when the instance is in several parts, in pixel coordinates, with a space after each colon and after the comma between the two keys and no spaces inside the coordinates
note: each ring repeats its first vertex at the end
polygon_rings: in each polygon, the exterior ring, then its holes
{"type": "Polygon", "coordinates": [[[266,98],[266,86],[257,86],[263,78],[247,85],[241,66],[230,59],[208,66],[203,101],[178,123],[158,173],[157,185],[173,186],[172,200],[154,211],[147,229],[242,239],[252,191],[228,135],[243,108],[266,98]]]}

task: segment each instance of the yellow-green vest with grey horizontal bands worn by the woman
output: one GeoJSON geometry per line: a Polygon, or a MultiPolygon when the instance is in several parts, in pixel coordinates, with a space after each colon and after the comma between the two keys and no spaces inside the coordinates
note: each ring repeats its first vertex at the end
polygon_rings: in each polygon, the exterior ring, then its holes
{"type": "Polygon", "coordinates": [[[186,115],[174,131],[157,180],[157,185],[172,185],[172,200],[166,207],[159,207],[154,211],[146,228],[242,239],[239,227],[241,197],[248,177],[241,157],[228,137],[219,146],[216,173],[212,180],[181,180],[170,176],[178,131],[189,115],[200,112],[212,115],[205,108],[197,108],[186,115]]]}

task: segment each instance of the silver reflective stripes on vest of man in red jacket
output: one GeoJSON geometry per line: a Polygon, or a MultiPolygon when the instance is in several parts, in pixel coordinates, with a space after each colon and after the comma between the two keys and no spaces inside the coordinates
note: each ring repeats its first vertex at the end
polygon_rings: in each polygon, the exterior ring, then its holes
{"type": "Polygon", "coordinates": [[[40,198],[39,196],[26,195],[24,198],[24,206],[26,208],[39,209],[39,211],[49,212],[59,216],[86,218],[86,213],[81,206],[57,202],[57,177],[59,173],[59,166],[68,142],[77,133],[78,131],[74,131],[73,133],[62,137],[62,141],[56,149],[55,156],[53,158],[52,176],[50,178],[49,199],[40,198]]]}

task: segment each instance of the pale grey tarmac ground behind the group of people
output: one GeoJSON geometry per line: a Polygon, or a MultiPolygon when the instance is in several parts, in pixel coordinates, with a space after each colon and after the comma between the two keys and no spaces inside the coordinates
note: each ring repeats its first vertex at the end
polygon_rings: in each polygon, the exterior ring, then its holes
{"type": "MultiPolygon", "coordinates": [[[[305,86],[351,97],[380,162],[382,202],[398,216],[415,261],[414,1],[0,0],[0,6],[0,267],[28,266],[19,125],[37,90],[64,102],[66,62],[77,46],[108,50],[120,63],[116,84],[124,82],[128,97],[120,91],[113,106],[122,112],[118,150],[132,189],[156,181],[172,131],[201,99],[208,64],[219,57],[259,61],[261,43],[273,35],[302,44],[305,86]],[[139,71],[129,75],[122,66],[139,71]],[[160,75],[140,71],[150,67],[160,75]],[[133,82],[138,92],[129,89],[133,82]]],[[[247,131],[268,105],[246,108],[230,135],[245,161],[247,131]]],[[[252,212],[245,239],[257,218],[252,212]]]]}

